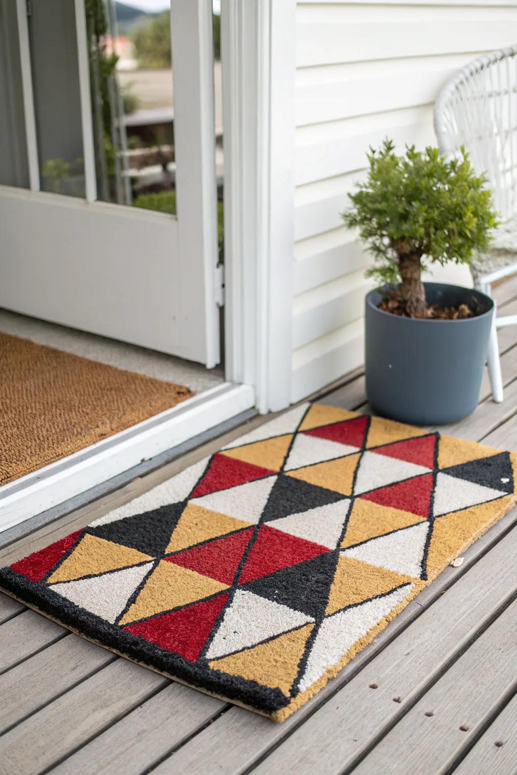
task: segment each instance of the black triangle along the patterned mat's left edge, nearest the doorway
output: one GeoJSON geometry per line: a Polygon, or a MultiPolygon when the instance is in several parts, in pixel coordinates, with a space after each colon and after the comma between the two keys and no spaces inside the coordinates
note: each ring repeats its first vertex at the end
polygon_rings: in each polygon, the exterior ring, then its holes
{"type": "Polygon", "coordinates": [[[118,519],[107,525],[88,528],[94,536],[139,549],[144,554],[159,557],[164,554],[185,507],[185,501],[171,503],[152,512],[118,519]]]}

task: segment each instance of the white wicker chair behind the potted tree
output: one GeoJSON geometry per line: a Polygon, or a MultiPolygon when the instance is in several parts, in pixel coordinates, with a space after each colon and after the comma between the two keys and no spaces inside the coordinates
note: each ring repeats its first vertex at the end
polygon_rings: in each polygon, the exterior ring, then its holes
{"type": "MultiPolygon", "coordinates": [[[[434,126],[444,156],[465,146],[474,169],[488,177],[502,222],[488,252],[470,269],[476,288],[491,295],[493,283],[517,274],[517,46],[479,57],[453,74],[436,100],[434,126]]],[[[497,329],[504,325],[517,325],[517,315],[494,318],[488,346],[494,401],[503,399],[497,329]]]]}

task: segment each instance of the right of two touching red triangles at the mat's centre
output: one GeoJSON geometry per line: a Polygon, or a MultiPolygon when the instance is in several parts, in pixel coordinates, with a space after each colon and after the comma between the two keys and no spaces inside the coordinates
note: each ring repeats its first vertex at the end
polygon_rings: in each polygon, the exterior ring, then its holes
{"type": "Polygon", "coordinates": [[[305,541],[268,525],[262,525],[241,571],[239,584],[246,584],[246,581],[267,576],[280,568],[302,563],[303,560],[312,560],[312,557],[323,552],[329,552],[329,549],[319,543],[305,541]]]}

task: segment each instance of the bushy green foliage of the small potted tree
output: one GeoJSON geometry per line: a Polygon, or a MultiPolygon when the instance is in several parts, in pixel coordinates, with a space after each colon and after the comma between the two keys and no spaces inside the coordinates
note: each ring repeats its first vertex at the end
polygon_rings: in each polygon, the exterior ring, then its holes
{"type": "Polygon", "coordinates": [[[376,260],[367,274],[396,284],[399,257],[408,255],[420,258],[422,270],[429,263],[469,263],[498,222],[485,177],[474,173],[463,149],[450,161],[432,147],[419,153],[406,146],[402,157],[394,149],[391,140],[371,149],[367,180],[349,194],[352,206],[343,213],[376,260]]]}

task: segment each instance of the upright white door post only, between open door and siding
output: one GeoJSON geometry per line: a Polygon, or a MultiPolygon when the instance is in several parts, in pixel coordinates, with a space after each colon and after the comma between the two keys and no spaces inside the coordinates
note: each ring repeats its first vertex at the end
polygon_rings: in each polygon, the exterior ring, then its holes
{"type": "Polygon", "coordinates": [[[226,378],[291,403],[296,0],[222,0],[226,378]]]}

